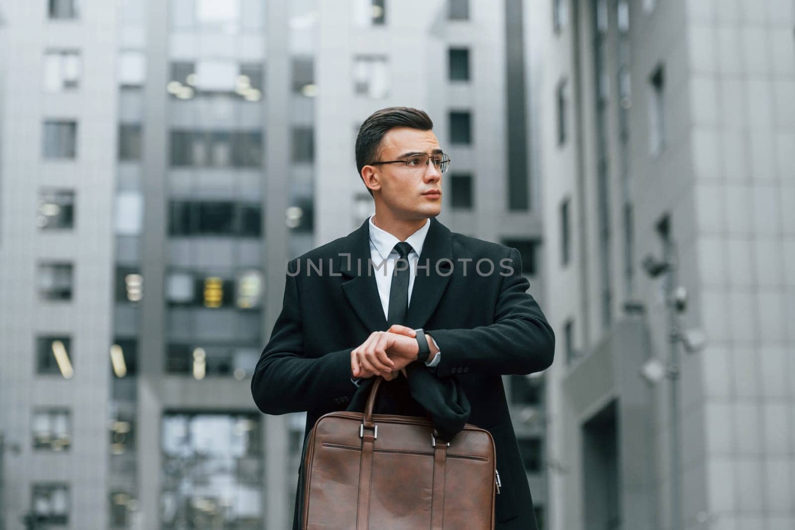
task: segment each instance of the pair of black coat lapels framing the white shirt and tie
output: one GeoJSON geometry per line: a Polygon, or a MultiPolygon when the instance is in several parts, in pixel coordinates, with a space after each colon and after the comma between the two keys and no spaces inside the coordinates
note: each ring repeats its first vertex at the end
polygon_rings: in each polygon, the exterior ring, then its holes
{"type": "MultiPolygon", "coordinates": [[[[350,278],[342,284],[343,292],[359,320],[369,331],[386,331],[386,318],[375,282],[376,273],[368,261],[371,259],[369,223],[368,219],[345,238],[344,250],[338,261],[339,272],[350,278]]],[[[417,264],[406,326],[423,327],[431,318],[452,276],[452,263],[450,230],[432,218],[417,264]],[[427,269],[420,268],[426,264],[427,269]]]]}

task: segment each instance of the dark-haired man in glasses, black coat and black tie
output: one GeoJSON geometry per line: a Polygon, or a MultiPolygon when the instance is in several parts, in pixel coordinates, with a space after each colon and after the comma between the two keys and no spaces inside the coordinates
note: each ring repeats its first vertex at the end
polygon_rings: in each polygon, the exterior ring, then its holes
{"type": "Polygon", "coordinates": [[[450,162],[432,126],[407,107],[378,110],[362,124],[356,165],[375,215],[290,261],[251,392],[266,414],[307,411],[308,434],[320,416],[347,408],[363,379],[380,376],[405,393],[399,381],[412,362],[456,377],[471,404],[468,423],[494,437],[497,528],[536,528],[500,376],[548,368],[555,337],[526,292],[517,250],[436,220],[450,162]]]}

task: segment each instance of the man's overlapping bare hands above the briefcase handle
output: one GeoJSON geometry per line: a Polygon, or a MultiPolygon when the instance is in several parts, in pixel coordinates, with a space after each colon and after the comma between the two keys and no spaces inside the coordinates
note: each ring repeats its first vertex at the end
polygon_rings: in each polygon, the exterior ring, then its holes
{"type": "MultiPolygon", "coordinates": [[[[361,346],[351,351],[353,377],[380,375],[391,381],[397,372],[417,358],[416,333],[405,326],[393,326],[389,331],[373,331],[361,346]]],[[[405,375],[405,371],[403,372],[405,375]]]]}

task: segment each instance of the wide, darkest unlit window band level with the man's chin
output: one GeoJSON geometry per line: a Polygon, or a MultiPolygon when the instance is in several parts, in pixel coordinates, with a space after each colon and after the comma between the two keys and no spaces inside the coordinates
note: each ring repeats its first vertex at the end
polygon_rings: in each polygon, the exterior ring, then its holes
{"type": "Polygon", "coordinates": [[[262,207],[231,201],[171,201],[169,235],[226,235],[259,237],[262,207]]]}

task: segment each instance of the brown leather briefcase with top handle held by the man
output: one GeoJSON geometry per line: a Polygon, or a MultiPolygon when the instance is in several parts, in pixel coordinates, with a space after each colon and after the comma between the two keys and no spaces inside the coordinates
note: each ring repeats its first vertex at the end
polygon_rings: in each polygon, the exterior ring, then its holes
{"type": "Polygon", "coordinates": [[[449,443],[430,420],[330,412],[317,420],[304,456],[301,528],[494,528],[494,439],[466,424],[449,443]]]}

